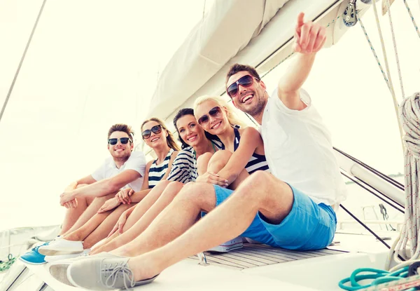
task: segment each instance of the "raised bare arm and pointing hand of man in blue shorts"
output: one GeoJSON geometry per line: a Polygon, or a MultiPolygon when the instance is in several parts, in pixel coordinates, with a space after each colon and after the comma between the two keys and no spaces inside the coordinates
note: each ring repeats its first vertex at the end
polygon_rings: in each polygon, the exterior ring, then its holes
{"type": "Polygon", "coordinates": [[[281,77],[278,95],[283,104],[289,109],[302,110],[306,105],[300,100],[299,90],[306,81],[314,64],[316,53],[325,43],[325,27],[304,22],[304,13],[297,16],[293,50],[297,56],[284,76],[281,77]]]}

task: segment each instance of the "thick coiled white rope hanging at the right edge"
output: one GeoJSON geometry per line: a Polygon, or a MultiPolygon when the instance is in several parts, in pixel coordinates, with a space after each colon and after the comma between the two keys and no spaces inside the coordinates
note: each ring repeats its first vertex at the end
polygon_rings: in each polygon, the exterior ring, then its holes
{"type": "Polygon", "coordinates": [[[397,269],[409,262],[419,260],[420,255],[420,204],[419,176],[420,171],[420,93],[405,98],[400,105],[400,123],[405,130],[403,142],[405,172],[405,224],[397,240],[391,246],[386,269],[395,259],[397,269]],[[406,259],[402,262],[398,255],[406,259]]]}

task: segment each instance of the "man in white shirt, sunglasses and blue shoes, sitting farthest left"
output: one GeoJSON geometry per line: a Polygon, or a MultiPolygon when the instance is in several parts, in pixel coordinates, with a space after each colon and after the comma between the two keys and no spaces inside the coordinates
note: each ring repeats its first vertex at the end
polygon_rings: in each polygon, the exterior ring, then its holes
{"type": "MultiPolygon", "coordinates": [[[[140,191],[146,170],[146,158],[133,151],[133,132],[126,124],[114,124],[108,131],[107,147],[111,156],[91,175],[71,183],[60,195],[60,204],[67,208],[59,236],[83,226],[99,208],[118,191],[131,188],[140,191]]],[[[21,257],[31,264],[45,263],[38,251],[21,257]]]]}

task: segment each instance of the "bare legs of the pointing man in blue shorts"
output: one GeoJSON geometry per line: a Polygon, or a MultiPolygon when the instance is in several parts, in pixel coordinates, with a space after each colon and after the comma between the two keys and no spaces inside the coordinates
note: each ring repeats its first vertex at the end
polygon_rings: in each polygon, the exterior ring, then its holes
{"type": "Polygon", "coordinates": [[[214,189],[209,184],[187,186],[151,226],[119,254],[144,254],[129,261],[135,280],[155,276],[181,259],[239,236],[258,211],[272,224],[279,224],[293,205],[293,192],[288,184],[258,171],[227,201],[192,226],[200,210],[214,207],[214,189]]]}

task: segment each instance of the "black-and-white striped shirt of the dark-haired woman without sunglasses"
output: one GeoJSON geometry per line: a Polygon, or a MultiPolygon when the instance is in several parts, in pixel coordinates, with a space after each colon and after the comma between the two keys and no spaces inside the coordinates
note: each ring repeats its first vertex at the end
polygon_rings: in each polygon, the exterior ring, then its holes
{"type": "MultiPolygon", "coordinates": [[[[211,142],[218,149],[221,149],[223,146],[222,142],[219,140],[211,140],[211,142]]],[[[176,156],[167,180],[186,184],[188,182],[195,182],[197,177],[197,158],[195,157],[195,150],[193,147],[187,147],[180,151],[178,156],[176,156]]]]}

